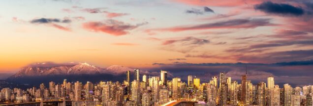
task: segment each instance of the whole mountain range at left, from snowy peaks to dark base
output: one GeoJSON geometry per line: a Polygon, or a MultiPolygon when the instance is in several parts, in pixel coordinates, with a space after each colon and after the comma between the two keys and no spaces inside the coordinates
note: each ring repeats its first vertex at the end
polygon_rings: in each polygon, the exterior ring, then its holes
{"type": "Polygon", "coordinates": [[[100,80],[123,81],[125,72],[133,69],[121,65],[112,65],[107,68],[100,68],[88,63],[63,63],[53,62],[33,63],[25,66],[6,81],[19,84],[40,84],[50,81],[92,81],[100,80]]]}

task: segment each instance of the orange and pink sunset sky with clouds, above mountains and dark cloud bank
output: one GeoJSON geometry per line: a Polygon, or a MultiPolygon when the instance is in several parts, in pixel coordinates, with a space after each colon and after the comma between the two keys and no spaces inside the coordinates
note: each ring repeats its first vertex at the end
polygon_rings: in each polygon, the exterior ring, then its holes
{"type": "Polygon", "coordinates": [[[158,67],[313,59],[312,0],[2,0],[0,7],[5,73],[45,61],[158,67]]]}

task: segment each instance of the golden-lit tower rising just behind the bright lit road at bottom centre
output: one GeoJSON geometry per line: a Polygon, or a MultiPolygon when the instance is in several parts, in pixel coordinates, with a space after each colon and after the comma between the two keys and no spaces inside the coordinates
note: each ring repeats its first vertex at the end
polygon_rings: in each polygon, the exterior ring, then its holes
{"type": "Polygon", "coordinates": [[[181,92],[180,92],[180,88],[181,88],[181,79],[180,78],[174,78],[172,80],[172,99],[173,100],[178,100],[181,98],[181,92]]]}

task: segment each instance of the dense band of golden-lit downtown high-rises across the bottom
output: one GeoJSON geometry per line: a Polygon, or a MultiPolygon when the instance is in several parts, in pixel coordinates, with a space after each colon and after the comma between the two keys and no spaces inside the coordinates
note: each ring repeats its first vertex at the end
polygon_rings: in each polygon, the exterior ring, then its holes
{"type": "MultiPolygon", "coordinates": [[[[231,80],[221,72],[212,80],[200,83],[195,76],[188,76],[188,82],[180,78],[168,80],[167,72],[160,76],[140,76],[134,70],[134,80],[126,71],[124,82],[100,81],[99,83],[67,82],[27,90],[3,88],[1,103],[23,104],[45,101],[68,101],[72,106],[312,106],[313,86],[292,88],[275,85],[269,76],[267,84],[255,85],[248,77],[242,76],[241,83],[231,80]]],[[[64,103],[65,104],[65,103],[64,103]]]]}

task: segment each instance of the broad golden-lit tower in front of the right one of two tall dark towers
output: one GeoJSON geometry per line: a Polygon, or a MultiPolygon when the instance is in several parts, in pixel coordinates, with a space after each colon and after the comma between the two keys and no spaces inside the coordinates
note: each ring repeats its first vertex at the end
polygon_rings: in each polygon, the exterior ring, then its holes
{"type": "Polygon", "coordinates": [[[134,104],[138,106],[141,101],[140,97],[140,83],[139,80],[134,80],[131,82],[131,100],[134,101],[134,104]]]}

